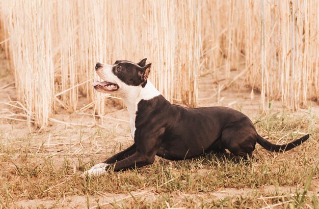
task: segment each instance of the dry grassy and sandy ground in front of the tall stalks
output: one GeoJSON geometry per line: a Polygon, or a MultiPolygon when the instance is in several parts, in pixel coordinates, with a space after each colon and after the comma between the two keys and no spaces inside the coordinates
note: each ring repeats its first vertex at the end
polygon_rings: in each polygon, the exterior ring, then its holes
{"type": "MultiPolygon", "coordinates": [[[[1,59],[1,68],[6,69],[1,59]]],[[[1,71],[1,111],[15,100],[13,78],[1,71]]],[[[290,112],[273,101],[271,113],[261,114],[258,99],[250,99],[241,81],[207,99],[214,88],[201,78],[200,106],[224,105],[250,116],[260,135],[285,143],[310,133],[301,146],[274,154],[257,146],[254,158],[234,163],[227,156],[155,163],[136,170],[110,172],[84,180],[79,175],[132,143],[128,112],[110,105],[103,125],[94,125],[89,111],[56,110],[47,132],[29,133],[25,122],[2,118],[0,129],[2,208],[318,208],[319,107],[290,112]],[[205,99],[206,98],[206,99],[205,99]],[[120,120],[112,119],[118,118],[120,120]]],[[[213,86],[212,86],[213,85],[213,86]]],[[[215,86],[216,87],[216,86],[215,86]]],[[[15,105],[17,106],[17,105],[15,105]]]]}

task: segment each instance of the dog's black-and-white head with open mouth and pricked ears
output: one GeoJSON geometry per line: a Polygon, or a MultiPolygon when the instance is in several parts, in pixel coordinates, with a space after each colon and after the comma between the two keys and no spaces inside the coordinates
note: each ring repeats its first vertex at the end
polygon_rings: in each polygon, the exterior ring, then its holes
{"type": "Polygon", "coordinates": [[[147,83],[151,63],[146,65],[146,58],[135,64],[129,61],[116,61],[114,65],[97,63],[96,73],[104,81],[92,83],[95,90],[102,93],[129,93],[143,88],[147,83]]]}

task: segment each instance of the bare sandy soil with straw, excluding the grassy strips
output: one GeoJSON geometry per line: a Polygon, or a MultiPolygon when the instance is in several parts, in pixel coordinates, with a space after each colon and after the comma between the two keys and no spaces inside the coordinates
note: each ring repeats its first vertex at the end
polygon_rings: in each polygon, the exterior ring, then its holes
{"type": "MultiPolygon", "coordinates": [[[[15,88],[14,88],[14,79],[12,73],[8,70],[7,63],[0,54],[0,114],[4,114],[8,111],[18,112],[19,110],[13,107],[6,105],[5,103],[12,100],[16,100],[15,88]]],[[[226,81],[225,81],[226,82],[226,81]]],[[[223,81],[220,85],[223,84],[223,81]]],[[[243,79],[237,80],[234,84],[228,88],[221,91],[220,94],[217,93],[218,84],[212,82],[210,75],[205,75],[200,79],[200,91],[199,91],[199,106],[229,106],[234,109],[239,109],[245,114],[247,114],[252,120],[260,115],[260,105],[259,105],[259,94],[254,94],[253,98],[251,97],[251,88],[244,85],[243,79]]],[[[310,101],[309,101],[310,102],[310,101]]],[[[80,103],[85,105],[86,99],[82,98],[80,103]]],[[[310,102],[312,105],[312,112],[315,115],[319,115],[319,106],[315,102],[310,102]]],[[[279,101],[273,101],[272,111],[282,112],[282,106],[279,101]]],[[[11,121],[7,119],[0,119],[0,132],[2,132],[2,137],[0,138],[1,143],[19,143],[20,139],[25,138],[25,136],[32,136],[32,143],[37,148],[38,144],[47,145],[44,153],[42,154],[54,154],[59,153],[60,156],[62,153],[77,153],[85,154],[92,153],[88,159],[95,159],[96,161],[102,161],[103,157],[108,150],[117,144],[122,144],[127,146],[132,143],[132,138],[130,136],[129,124],[127,122],[122,122],[118,120],[110,120],[108,118],[97,120],[100,126],[96,126],[95,120],[91,115],[86,115],[82,113],[72,113],[69,114],[66,110],[62,108],[57,109],[57,114],[52,115],[52,118],[63,121],[64,123],[55,123],[50,122],[50,127],[47,132],[37,133],[37,130],[34,129],[33,133],[29,133],[28,128],[26,127],[25,122],[11,121]],[[81,125],[81,126],[79,126],[81,125]],[[100,131],[102,134],[100,136],[95,136],[93,139],[89,139],[89,136],[96,132],[100,131]],[[108,138],[106,141],[105,138],[108,138]],[[81,141],[81,143],[79,142],[81,141]],[[94,154],[94,155],[93,155],[94,154]]],[[[123,121],[129,120],[128,112],[125,109],[122,109],[119,106],[113,107],[108,106],[107,116],[119,118],[123,121]]],[[[306,114],[308,109],[301,109],[295,114],[306,114]]],[[[90,110],[84,113],[90,114],[90,110]]],[[[316,125],[317,128],[318,125],[316,125]]],[[[72,158],[72,156],[71,156],[72,158]]],[[[63,159],[63,158],[61,158],[63,159]]],[[[4,163],[4,162],[3,162],[4,163]]],[[[56,166],[59,166],[59,158],[57,158],[56,166]]],[[[11,167],[8,162],[8,166],[11,167]]],[[[272,187],[266,187],[264,190],[274,189],[272,187]]],[[[282,190],[289,190],[289,187],[281,188],[282,190]]],[[[296,188],[294,188],[296,189],[296,188]]],[[[235,189],[228,188],[216,191],[209,194],[190,194],[193,196],[207,196],[209,198],[223,198],[229,195],[244,195],[247,192],[251,192],[250,189],[235,189]]],[[[139,193],[143,194],[143,198],[154,198],[155,193],[151,191],[140,191],[139,193]],[[145,193],[145,194],[144,194],[145,193]]],[[[136,193],[134,193],[136,194],[136,193]]],[[[176,194],[178,195],[188,195],[188,194],[176,194]]],[[[69,207],[69,208],[78,208],[82,207],[84,204],[89,202],[91,204],[95,203],[96,199],[99,198],[99,201],[110,201],[110,200],[119,200],[130,197],[128,194],[103,194],[100,196],[67,196],[58,200],[48,200],[48,199],[37,199],[37,200],[21,200],[17,201],[16,205],[24,207],[35,207],[41,205],[51,205],[59,207],[69,207]]]]}

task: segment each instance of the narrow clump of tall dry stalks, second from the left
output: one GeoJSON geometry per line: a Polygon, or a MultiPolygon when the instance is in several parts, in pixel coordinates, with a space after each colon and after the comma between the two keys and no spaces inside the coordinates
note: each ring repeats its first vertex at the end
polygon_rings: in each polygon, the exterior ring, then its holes
{"type": "MultiPolygon", "coordinates": [[[[59,70],[60,92],[70,89],[61,95],[61,101],[65,104],[70,112],[76,110],[78,100],[78,74],[77,74],[77,34],[76,34],[76,8],[75,4],[69,1],[56,1],[52,3],[52,8],[55,8],[53,15],[54,29],[52,33],[55,35],[56,42],[56,58],[55,58],[55,69],[59,70]],[[72,88],[76,86],[75,88],[72,88]]],[[[55,75],[57,77],[57,73],[55,75]]]]}

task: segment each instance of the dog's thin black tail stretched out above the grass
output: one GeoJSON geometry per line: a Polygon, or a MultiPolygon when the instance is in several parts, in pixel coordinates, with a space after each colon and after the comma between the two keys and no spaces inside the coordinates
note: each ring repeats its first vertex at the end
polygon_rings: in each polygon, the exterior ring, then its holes
{"type": "Polygon", "coordinates": [[[273,144],[267,140],[265,140],[264,138],[262,138],[261,136],[257,136],[257,142],[266,150],[269,150],[271,152],[284,152],[284,151],[288,151],[291,150],[292,148],[295,148],[296,146],[302,144],[303,142],[305,142],[308,138],[309,138],[309,134],[301,137],[300,139],[297,139],[293,142],[287,143],[287,144],[273,144]]]}

